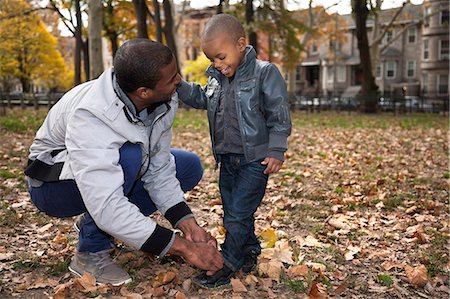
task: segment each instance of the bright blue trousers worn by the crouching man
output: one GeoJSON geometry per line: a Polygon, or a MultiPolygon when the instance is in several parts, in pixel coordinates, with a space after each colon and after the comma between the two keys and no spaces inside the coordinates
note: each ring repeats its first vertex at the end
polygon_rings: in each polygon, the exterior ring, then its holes
{"type": "MultiPolygon", "coordinates": [[[[203,175],[200,159],[193,153],[171,149],[175,157],[176,177],[184,192],[194,188],[203,175]]],[[[156,207],[143,187],[141,180],[134,181],[141,167],[141,149],[137,144],[125,143],[120,149],[119,164],[122,166],[125,183],[124,194],[142,214],[148,216],[156,207]]],[[[44,183],[30,188],[31,200],[36,207],[49,216],[72,217],[85,213],[80,227],[78,251],[98,252],[112,247],[111,236],[100,230],[87,213],[80,192],[73,180],[44,183]]]]}

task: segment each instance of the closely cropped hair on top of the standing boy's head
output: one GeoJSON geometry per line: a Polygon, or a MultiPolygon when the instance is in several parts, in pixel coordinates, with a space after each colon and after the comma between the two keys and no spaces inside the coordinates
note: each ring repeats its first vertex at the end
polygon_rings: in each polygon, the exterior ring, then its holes
{"type": "Polygon", "coordinates": [[[238,41],[241,37],[245,38],[245,30],[241,22],[229,14],[218,14],[209,19],[203,30],[202,40],[211,40],[218,34],[225,34],[232,41],[238,41]]]}

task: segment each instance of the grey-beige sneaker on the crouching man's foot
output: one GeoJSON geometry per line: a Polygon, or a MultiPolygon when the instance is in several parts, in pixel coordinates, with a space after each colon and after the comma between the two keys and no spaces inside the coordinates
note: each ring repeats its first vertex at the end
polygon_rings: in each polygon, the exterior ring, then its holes
{"type": "Polygon", "coordinates": [[[110,252],[110,249],[94,253],[77,252],[70,262],[69,270],[80,277],[88,272],[97,279],[97,283],[109,283],[113,286],[130,283],[130,275],[114,263],[110,252]]]}

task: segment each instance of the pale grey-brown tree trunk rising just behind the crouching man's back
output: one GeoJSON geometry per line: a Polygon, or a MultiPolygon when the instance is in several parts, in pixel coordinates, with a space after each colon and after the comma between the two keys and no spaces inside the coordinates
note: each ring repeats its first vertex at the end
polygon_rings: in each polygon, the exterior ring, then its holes
{"type": "Polygon", "coordinates": [[[103,73],[103,6],[101,0],[89,0],[89,78],[103,73]]]}

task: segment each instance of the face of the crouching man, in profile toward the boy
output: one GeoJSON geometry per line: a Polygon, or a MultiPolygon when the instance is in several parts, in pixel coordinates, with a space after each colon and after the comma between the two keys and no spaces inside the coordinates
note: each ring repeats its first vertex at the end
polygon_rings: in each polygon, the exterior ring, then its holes
{"type": "Polygon", "coordinates": [[[172,62],[161,69],[161,79],[152,89],[152,103],[167,102],[180,84],[181,77],[178,74],[175,58],[172,62]]]}

